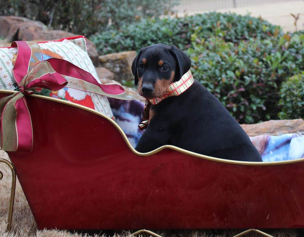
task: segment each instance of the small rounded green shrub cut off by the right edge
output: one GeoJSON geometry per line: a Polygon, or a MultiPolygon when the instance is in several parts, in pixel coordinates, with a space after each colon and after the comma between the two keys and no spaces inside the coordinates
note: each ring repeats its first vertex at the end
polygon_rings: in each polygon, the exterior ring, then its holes
{"type": "Polygon", "coordinates": [[[282,83],[280,98],[280,119],[304,118],[304,71],[282,83]]]}

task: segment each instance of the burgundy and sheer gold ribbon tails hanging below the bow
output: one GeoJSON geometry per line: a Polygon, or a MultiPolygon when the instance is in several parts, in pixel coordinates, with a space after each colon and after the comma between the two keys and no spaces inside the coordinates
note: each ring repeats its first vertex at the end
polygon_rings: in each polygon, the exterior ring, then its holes
{"type": "Polygon", "coordinates": [[[16,92],[0,99],[1,107],[3,108],[0,118],[1,150],[31,151],[33,130],[24,95],[21,92],[16,92]]]}

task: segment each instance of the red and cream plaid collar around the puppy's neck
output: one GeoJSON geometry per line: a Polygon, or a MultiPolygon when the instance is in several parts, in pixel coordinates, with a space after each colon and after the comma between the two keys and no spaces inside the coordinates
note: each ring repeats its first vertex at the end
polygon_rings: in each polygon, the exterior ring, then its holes
{"type": "Polygon", "coordinates": [[[149,99],[149,101],[156,105],[161,102],[163,99],[166,99],[170,96],[179,96],[185,90],[187,90],[194,82],[191,71],[187,71],[179,81],[171,83],[166,89],[166,93],[157,98],[149,99]]]}

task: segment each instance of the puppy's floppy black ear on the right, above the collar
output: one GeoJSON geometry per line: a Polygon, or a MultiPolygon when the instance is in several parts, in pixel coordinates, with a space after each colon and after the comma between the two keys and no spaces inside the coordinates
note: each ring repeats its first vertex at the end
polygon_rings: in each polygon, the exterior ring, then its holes
{"type": "Polygon", "coordinates": [[[178,49],[175,45],[171,45],[169,51],[176,60],[174,81],[177,82],[190,69],[191,60],[187,54],[178,49]]]}

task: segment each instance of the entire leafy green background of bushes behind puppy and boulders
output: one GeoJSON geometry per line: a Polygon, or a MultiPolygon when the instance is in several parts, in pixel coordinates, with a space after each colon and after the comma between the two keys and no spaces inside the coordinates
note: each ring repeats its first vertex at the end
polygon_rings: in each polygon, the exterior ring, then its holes
{"type": "Polygon", "coordinates": [[[0,15],[39,19],[49,28],[86,35],[99,54],[174,44],[191,58],[194,77],[239,123],[303,117],[304,106],[295,106],[292,98],[302,105],[304,94],[287,93],[303,84],[302,31],[284,33],[261,18],[233,13],[177,17],[171,11],[177,3],[2,0],[0,15]]]}

